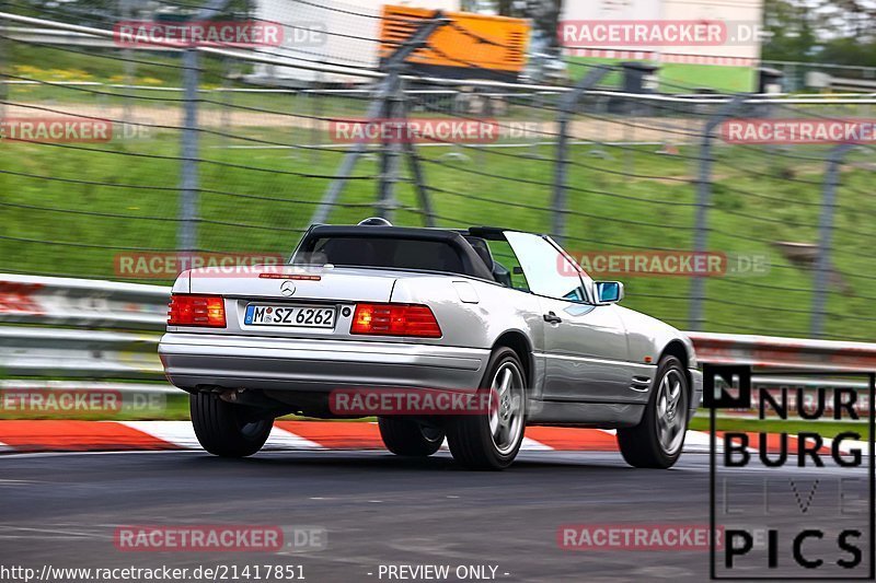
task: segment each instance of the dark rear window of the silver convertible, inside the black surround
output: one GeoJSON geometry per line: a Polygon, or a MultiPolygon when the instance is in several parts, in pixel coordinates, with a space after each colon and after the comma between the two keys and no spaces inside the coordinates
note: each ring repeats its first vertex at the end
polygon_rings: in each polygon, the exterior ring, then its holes
{"type": "Polygon", "coordinates": [[[373,236],[316,238],[311,249],[299,250],[292,261],[464,273],[462,260],[453,246],[440,241],[415,238],[373,236]]]}

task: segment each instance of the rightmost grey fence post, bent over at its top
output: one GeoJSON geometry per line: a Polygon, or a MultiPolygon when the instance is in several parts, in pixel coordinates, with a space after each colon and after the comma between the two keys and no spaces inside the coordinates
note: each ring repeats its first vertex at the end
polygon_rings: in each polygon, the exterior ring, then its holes
{"type": "Polygon", "coordinates": [[[825,335],[828,292],[830,291],[830,248],[833,238],[833,214],[837,210],[837,187],[840,184],[840,165],[845,153],[855,144],[841,143],[830,151],[825,168],[825,188],[821,195],[821,214],[818,218],[818,257],[812,282],[812,338],[825,335]]]}

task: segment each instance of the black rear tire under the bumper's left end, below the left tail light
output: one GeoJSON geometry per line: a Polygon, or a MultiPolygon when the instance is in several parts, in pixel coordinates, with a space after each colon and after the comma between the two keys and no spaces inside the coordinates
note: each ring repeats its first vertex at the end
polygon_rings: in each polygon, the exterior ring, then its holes
{"type": "Polygon", "coordinates": [[[189,395],[188,405],[198,442],[221,457],[253,455],[265,444],[274,427],[273,419],[242,420],[242,405],[226,403],[211,393],[189,395]]]}

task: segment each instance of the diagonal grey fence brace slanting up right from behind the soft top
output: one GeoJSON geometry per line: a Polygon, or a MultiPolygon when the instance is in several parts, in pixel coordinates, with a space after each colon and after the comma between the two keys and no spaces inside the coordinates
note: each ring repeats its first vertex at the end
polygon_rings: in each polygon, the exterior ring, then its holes
{"type": "MultiPolygon", "coordinates": [[[[402,46],[395,50],[395,53],[385,59],[383,68],[387,69],[389,73],[377,86],[374,101],[371,103],[370,107],[368,108],[368,114],[366,115],[368,120],[379,119],[381,116],[385,116],[385,112],[388,109],[388,100],[392,96],[392,92],[396,90],[396,82],[400,80],[401,73],[405,69],[405,61],[407,60],[407,57],[410,57],[415,50],[423,48],[433,33],[448,22],[450,22],[450,20],[445,18],[440,10],[436,10],[430,19],[423,21],[423,24],[420,24],[419,27],[414,31],[407,40],[405,40],[402,46]]],[[[353,148],[349,150],[349,152],[344,154],[344,161],[341,163],[341,170],[338,170],[335,178],[332,180],[332,184],[328,185],[328,189],[325,191],[325,195],[323,195],[322,200],[316,206],[316,210],[313,212],[313,215],[310,219],[310,224],[324,223],[328,219],[328,214],[332,212],[332,207],[335,206],[338,197],[341,197],[341,193],[344,190],[344,186],[346,186],[347,179],[353,173],[353,168],[356,167],[356,162],[365,152],[366,145],[367,144],[365,140],[357,141],[355,144],[353,144],[353,148]]],[[[384,193],[381,189],[380,200],[383,199],[384,193]]]]}

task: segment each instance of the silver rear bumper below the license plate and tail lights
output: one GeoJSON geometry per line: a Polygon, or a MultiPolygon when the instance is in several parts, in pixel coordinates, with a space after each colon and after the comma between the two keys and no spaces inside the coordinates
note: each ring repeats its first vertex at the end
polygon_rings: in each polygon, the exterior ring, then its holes
{"type": "Polygon", "coordinates": [[[168,380],[186,389],[473,388],[489,360],[473,348],[181,333],[165,334],[158,352],[168,380]]]}

